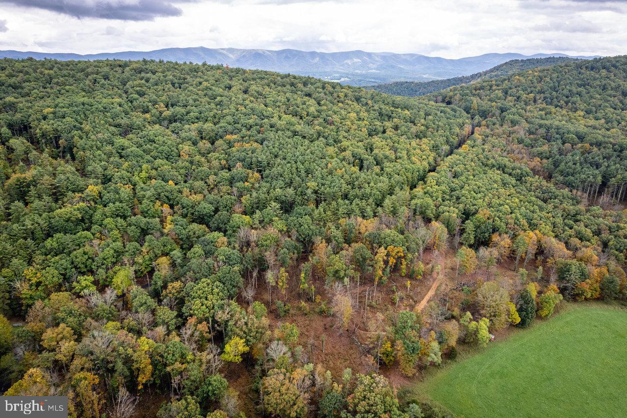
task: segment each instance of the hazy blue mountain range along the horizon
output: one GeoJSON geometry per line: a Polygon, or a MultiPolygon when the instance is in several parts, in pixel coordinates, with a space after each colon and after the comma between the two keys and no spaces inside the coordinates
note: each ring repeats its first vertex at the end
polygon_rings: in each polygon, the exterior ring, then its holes
{"type": "MultiPolygon", "coordinates": [[[[391,52],[316,52],[298,50],[241,50],[237,48],[166,48],[154,51],[122,51],[80,55],[31,51],[0,51],[0,58],[54,58],[56,60],[166,60],[226,64],[258,70],[311,75],[352,85],[371,85],[394,81],[429,81],[470,75],[509,60],[569,56],[561,53],[522,55],[489,53],[451,60],[419,54],[391,52]]],[[[574,58],[596,58],[576,56],[574,58]]]]}

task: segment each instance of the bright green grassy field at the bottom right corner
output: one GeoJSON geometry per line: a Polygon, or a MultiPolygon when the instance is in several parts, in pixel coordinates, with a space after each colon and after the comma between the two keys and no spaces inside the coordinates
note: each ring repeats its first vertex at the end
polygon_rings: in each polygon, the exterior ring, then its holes
{"type": "Polygon", "coordinates": [[[627,417],[627,311],[571,305],[420,384],[460,417],[627,417]]]}

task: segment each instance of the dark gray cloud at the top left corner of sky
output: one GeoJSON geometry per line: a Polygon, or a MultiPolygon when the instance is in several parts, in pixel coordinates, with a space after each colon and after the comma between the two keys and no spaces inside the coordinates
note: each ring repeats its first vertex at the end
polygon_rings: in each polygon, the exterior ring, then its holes
{"type": "Polygon", "coordinates": [[[0,3],[15,4],[75,18],[100,18],[144,21],[162,16],[181,16],[175,3],[194,0],[0,0],[0,3]]]}

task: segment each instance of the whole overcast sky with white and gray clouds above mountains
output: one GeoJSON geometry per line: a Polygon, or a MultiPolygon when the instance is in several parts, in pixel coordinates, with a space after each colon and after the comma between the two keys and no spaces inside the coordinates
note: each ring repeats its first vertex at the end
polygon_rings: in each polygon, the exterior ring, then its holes
{"type": "Polygon", "coordinates": [[[627,53],[627,0],[0,0],[0,50],[627,53]]]}

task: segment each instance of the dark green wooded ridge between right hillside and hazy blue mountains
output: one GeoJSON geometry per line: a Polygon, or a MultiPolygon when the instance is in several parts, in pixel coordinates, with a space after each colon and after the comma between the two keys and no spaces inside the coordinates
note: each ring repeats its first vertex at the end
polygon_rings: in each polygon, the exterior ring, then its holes
{"type": "Polygon", "coordinates": [[[478,80],[488,80],[492,78],[512,75],[517,72],[529,70],[530,68],[551,67],[565,62],[571,62],[576,58],[568,58],[566,56],[549,56],[547,58],[528,58],[527,60],[509,60],[496,67],[490,68],[482,72],[471,75],[462,75],[460,77],[444,78],[442,80],[432,80],[428,82],[393,82],[377,84],[366,87],[368,90],[376,90],[377,92],[394,94],[398,96],[424,96],[427,94],[446,90],[446,88],[455,87],[456,85],[477,82],[478,80]]]}

